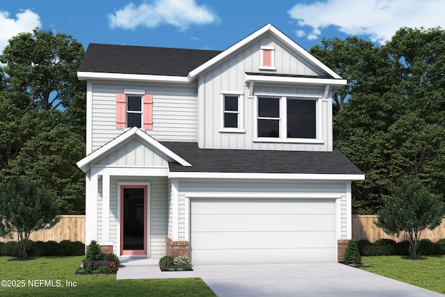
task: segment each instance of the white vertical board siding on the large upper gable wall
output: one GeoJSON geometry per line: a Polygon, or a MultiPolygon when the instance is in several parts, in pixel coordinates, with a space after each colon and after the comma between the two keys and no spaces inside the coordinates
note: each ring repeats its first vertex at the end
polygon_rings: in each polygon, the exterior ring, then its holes
{"type": "MultiPolygon", "coordinates": [[[[254,125],[257,120],[257,111],[254,109],[254,98],[248,97],[248,86],[245,83],[246,72],[263,72],[259,70],[260,47],[275,47],[276,74],[293,75],[325,75],[317,73],[309,63],[293,52],[286,50],[286,47],[277,40],[266,36],[257,42],[253,42],[242,51],[234,54],[231,58],[213,67],[209,72],[201,74],[198,81],[198,143],[202,148],[223,148],[241,150],[310,150],[328,151],[332,150],[332,103],[331,100],[321,99],[325,86],[290,86],[285,84],[266,85],[264,83],[254,83],[254,92],[277,93],[277,94],[307,94],[320,95],[321,102],[321,139],[324,143],[276,143],[253,142],[254,125]],[[243,92],[244,129],[245,133],[225,133],[220,132],[220,122],[223,116],[220,103],[220,92],[241,91],[243,92]]],[[[329,95],[332,92],[330,92],[329,95]]]]}

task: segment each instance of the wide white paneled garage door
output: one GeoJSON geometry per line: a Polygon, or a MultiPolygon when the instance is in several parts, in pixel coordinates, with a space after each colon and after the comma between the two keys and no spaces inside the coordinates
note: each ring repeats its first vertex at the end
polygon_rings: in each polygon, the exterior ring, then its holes
{"type": "Polygon", "coordinates": [[[192,199],[192,262],[336,262],[335,209],[333,199],[192,199]]]}

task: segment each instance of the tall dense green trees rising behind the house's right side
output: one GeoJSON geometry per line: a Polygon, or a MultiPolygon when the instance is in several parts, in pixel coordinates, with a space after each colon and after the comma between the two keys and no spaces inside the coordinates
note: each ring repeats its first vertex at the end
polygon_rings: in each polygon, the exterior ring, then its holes
{"type": "Polygon", "coordinates": [[[348,79],[333,125],[334,145],[366,175],[353,182],[353,213],[375,214],[401,179],[443,193],[445,31],[402,28],[382,47],[325,40],[311,52],[348,79]]]}

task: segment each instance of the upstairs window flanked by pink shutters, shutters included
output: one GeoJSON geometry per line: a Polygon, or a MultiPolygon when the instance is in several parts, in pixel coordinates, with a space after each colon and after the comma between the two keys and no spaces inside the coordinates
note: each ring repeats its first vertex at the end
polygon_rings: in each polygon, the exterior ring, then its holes
{"type": "Polygon", "coordinates": [[[145,90],[125,90],[116,95],[116,127],[125,129],[153,127],[153,95],[145,90]]]}

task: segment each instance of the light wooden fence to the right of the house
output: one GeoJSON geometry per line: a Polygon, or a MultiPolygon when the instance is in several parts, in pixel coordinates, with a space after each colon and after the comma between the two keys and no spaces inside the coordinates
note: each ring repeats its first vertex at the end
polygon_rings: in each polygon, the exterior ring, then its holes
{"type": "MultiPolygon", "coordinates": [[[[401,233],[396,237],[389,236],[381,228],[377,227],[373,222],[377,220],[377,216],[353,215],[353,239],[359,241],[360,239],[367,239],[374,242],[378,239],[393,239],[396,242],[407,240],[405,233],[401,233]]],[[[435,230],[423,230],[421,239],[430,239],[433,242],[445,238],[445,220],[442,224],[437,226],[435,230]]]]}

